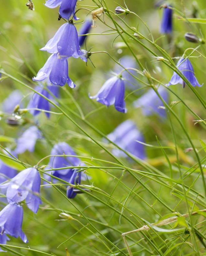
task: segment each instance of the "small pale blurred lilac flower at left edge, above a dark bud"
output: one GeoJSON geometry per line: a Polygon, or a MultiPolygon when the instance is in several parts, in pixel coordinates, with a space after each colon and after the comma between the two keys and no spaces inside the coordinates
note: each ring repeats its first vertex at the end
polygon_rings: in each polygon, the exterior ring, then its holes
{"type": "MultiPolygon", "coordinates": [[[[14,90],[9,96],[2,102],[2,111],[5,113],[13,113],[15,107],[21,102],[23,94],[19,90],[14,90]]],[[[21,104],[22,105],[22,104],[21,104]]]]}

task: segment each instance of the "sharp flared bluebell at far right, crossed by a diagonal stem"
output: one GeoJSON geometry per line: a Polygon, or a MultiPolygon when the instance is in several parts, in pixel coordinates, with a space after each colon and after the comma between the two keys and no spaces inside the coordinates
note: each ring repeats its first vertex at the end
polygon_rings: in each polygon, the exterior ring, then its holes
{"type": "MultiPolygon", "coordinates": [[[[195,77],[195,73],[194,73],[194,69],[192,67],[191,62],[189,61],[189,59],[185,59],[185,58],[181,58],[178,60],[177,62],[177,68],[179,69],[179,71],[181,71],[182,75],[185,76],[189,82],[191,83],[192,86],[199,86],[201,87],[202,85],[200,85],[198,83],[197,78],[195,77]]],[[[185,87],[185,82],[182,80],[182,78],[180,76],[177,75],[176,72],[173,73],[173,76],[171,78],[171,80],[169,81],[169,84],[167,84],[167,86],[169,85],[176,85],[176,84],[182,84],[182,87],[185,87]]]]}

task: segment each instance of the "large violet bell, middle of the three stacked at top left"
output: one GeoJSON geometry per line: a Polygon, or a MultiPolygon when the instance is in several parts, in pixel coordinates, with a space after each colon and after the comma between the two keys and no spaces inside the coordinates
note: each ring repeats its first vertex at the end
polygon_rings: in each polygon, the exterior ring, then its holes
{"type": "Polygon", "coordinates": [[[78,34],[76,27],[72,23],[63,24],[56,32],[53,38],[41,48],[42,51],[50,53],[59,53],[59,58],[80,57],[83,61],[87,61],[85,52],[80,50],[78,34]]]}

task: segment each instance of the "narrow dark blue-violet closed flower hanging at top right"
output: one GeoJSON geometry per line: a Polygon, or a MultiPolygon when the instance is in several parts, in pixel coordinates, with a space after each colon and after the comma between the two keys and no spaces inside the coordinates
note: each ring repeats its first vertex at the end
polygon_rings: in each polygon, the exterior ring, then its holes
{"type": "Polygon", "coordinates": [[[161,34],[172,32],[172,13],[173,13],[172,9],[168,7],[163,8],[163,16],[162,16],[162,21],[160,26],[161,34]]]}

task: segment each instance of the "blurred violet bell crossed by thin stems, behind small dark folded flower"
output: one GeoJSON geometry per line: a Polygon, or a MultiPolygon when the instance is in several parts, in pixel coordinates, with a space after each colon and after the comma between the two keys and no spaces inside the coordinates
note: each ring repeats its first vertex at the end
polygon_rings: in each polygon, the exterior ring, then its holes
{"type": "MultiPolygon", "coordinates": [[[[46,169],[56,169],[56,168],[65,168],[67,166],[80,166],[81,160],[78,157],[75,157],[76,154],[74,150],[65,142],[60,142],[51,150],[51,157],[48,163],[48,168],[46,169]],[[72,155],[72,157],[58,157],[56,155],[72,155]],[[74,157],[73,157],[74,156],[74,157]]],[[[46,170],[45,169],[45,170],[46,170]]],[[[65,168],[60,170],[47,171],[44,173],[44,178],[48,181],[51,181],[51,176],[47,175],[47,173],[52,174],[53,176],[70,182],[70,179],[75,172],[74,168],[65,168]]],[[[54,181],[55,179],[53,179],[54,181]]],[[[56,182],[56,181],[55,181],[56,182]]],[[[71,182],[70,182],[71,183],[71,182]]]]}

